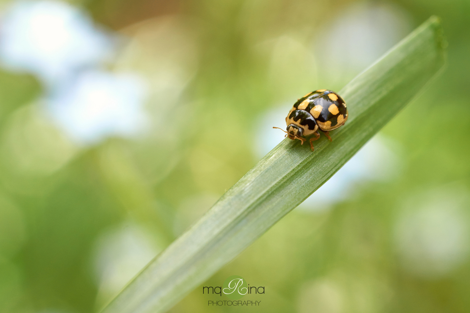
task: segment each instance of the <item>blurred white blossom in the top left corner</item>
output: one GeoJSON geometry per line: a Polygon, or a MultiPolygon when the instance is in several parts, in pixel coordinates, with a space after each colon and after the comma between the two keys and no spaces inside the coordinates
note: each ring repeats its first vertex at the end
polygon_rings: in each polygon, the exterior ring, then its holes
{"type": "Polygon", "coordinates": [[[70,4],[18,1],[1,20],[0,58],[5,67],[30,72],[51,85],[108,58],[113,41],[70,4]]]}

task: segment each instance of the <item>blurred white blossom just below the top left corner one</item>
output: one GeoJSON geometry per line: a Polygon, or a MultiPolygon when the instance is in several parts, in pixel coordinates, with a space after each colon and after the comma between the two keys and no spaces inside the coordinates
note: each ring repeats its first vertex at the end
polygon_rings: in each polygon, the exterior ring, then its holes
{"type": "Polygon", "coordinates": [[[145,128],[146,84],[140,76],[100,70],[80,73],[52,96],[49,111],[59,127],[78,143],[106,137],[132,137],[145,128]]]}

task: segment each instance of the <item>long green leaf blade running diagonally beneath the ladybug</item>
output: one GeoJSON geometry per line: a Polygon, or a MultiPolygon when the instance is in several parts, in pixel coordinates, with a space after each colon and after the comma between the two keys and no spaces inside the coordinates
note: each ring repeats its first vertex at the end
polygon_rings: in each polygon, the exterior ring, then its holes
{"type": "Polygon", "coordinates": [[[102,312],[171,308],[333,176],[420,92],[444,61],[440,21],[431,17],[339,92],[349,119],[331,133],[333,142],[324,137],[315,141],[312,153],[308,145],[284,139],[102,312]]]}

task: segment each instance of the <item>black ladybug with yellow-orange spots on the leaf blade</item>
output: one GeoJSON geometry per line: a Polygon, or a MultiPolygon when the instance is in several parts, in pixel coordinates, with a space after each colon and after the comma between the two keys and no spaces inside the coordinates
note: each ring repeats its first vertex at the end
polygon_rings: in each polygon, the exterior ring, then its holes
{"type": "Polygon", "coordinates": [[[286,117],[287,128],[282,130],[290,139],[299,139],[304,144],[307,139],[304,138],[315,135],[310,138],[310,149],[313,151],[313,141],[320,138],[321,130],[329,141],[329,131],[337,129],[348,119],[348,110],[345,100],[336,92],[321,89],[309,92],[298,99],[290,109],[286,117]]]}

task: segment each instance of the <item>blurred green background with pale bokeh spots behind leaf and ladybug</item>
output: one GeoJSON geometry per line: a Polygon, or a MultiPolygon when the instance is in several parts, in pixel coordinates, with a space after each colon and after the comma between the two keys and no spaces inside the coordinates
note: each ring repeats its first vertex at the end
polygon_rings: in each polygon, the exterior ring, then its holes
{"type": "Polygon", "coordinates": [[[198,287],[171,312],[470,312],[470,1],[1,12],[0,312],[98,311],[282,139],[297,98],[339,91],[433,14],[442,74],[203,284],[240,275],[261,305],[198,287]]]}

